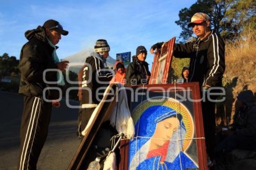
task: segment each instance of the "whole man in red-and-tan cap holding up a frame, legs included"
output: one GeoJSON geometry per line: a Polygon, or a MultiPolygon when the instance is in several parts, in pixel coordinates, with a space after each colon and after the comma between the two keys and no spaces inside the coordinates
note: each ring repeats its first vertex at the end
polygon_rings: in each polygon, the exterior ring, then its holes
{"type": "MultiPolygon", "coordinates": [[[[210,87],[222,87],[225,71],[225,44],[220,35],[210,29],[210,17],[207,14],[194,14],[189,26],[192,27],[198,39],[185,44],[175,44],[173,55],[176,58],[190,58],[188,82],[199,82],[201,94],[207,93],[210,87]]],[[[161,43],[153,45],[151,53],[160,47],[161,43]]],[[[211,97],[211,99],[215,98],[211,97]]],[[[202,102],[202,112],[207,153],[213,160],[215,102],[210,102],[208,99],[202,102]]]]}

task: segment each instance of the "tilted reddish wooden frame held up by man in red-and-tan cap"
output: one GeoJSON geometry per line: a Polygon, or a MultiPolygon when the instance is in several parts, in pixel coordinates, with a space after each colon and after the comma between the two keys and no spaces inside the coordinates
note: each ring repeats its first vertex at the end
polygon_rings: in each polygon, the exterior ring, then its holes
{"type": "Polygon", "coordinates": [[[154,54],[154,61],[151,68],[151,77],[149,84],[165,84],[167,83],[170,65],[173,57],[173,46],[175,37],[166,41],[161,49],[154,54]]]}

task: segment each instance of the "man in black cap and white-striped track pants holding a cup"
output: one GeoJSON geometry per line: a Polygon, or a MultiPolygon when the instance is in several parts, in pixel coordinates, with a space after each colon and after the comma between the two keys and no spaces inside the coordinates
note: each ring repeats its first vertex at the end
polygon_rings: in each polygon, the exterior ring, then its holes
{"type": "MultiPolygon", "coordinates": [[[[17,169],[36,169],[36,164],[45,143],[48,125],[51,118],[52,102],[43,99],[43,90],[50,84],[46,81],[57,81],[56,71],[46,69],[65,70],[67,62],[55,64],[53,53],[62,35],[68,32],[63,30],[60,23],[47,20],[43,26],[29,30],[25,37],[29,40],[23,45],[20,52],[20,89],[24,96],[23,114],[20,126],[20,155],[17,169]]],[[[51,84],[56,86],[56,84],[51,84]]],[[[58,99],[59,94],[53,90],[46,90],[47,99],[58,99]]]]}

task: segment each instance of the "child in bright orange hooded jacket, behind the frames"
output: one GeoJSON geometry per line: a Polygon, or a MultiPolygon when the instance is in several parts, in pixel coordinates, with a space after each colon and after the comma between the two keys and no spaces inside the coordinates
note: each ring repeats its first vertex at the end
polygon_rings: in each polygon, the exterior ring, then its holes
{"type": "Polygon", "coordinates": [[[115,76],[112,78],[112,80],[110,81],[110,83],[114,83],[114,82],[119,82],[121,84],[125,84],[125,67],[123,65],[122,62],[118,62],[117,65],[115,66],[116,68],[116,74],[115,76]]]}

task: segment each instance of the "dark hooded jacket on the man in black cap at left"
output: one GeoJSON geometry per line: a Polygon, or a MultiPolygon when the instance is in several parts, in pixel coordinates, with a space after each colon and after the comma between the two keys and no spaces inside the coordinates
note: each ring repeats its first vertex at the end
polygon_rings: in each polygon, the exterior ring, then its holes
{"type": "Polygon", "coordinates": [[[47,87],[46,96],[48,99],[58,99],[55,90],[49,90],[49,86],[57,86],[55,83],[48,84],[46,81],[57,81],[56,71],[47,71],[45,80],[43,72],[46,69],[58,69],[52,59],[54,50],[48,44],[45,30],[38,26],[36,29],[25,32],[28,42],[23,45],[20,52],[20,89],[19,93],[25,96],[42,96],[43,90],[47,87]]]}

